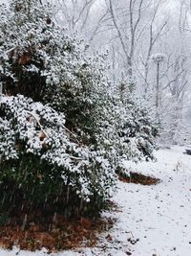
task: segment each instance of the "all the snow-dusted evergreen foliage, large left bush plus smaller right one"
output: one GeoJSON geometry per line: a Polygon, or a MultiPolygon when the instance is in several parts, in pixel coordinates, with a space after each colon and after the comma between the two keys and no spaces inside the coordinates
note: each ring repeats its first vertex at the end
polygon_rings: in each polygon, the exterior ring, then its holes
{"type": "Polygon", "coordinates": [[[51,7],[12,0],[0,15],[3,198],[18,190],[34,204],[100,208],[122,159],[153,157],[155,124],[132,93],[112,89],[104,56],[86,56],[51,7]]]}

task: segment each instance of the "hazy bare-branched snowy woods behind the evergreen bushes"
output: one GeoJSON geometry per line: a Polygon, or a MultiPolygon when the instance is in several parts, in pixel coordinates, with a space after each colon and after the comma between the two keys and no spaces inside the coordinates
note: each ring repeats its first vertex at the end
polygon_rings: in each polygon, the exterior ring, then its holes
{"type": "Polygon", "coordinates": [[[188,0],[57,0],[55,20],[108,54],[109,76],[136,84],[162,124],[160,143],[190,140],[188,0]]]}

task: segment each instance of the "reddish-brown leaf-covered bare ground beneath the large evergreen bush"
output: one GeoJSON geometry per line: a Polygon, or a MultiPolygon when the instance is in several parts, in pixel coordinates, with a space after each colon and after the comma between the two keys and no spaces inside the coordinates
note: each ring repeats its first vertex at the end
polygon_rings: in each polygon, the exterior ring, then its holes
{"type": "Polygon", "coordinates": [[[40,215],[11,218],[0,227],[0,246],[11,249],[16,245],[31,251],[45,247],[49,252],[95,246],[98,234],[114,223],[111,219],[65,219],[62,215],[51,219],[40,215]]]}

